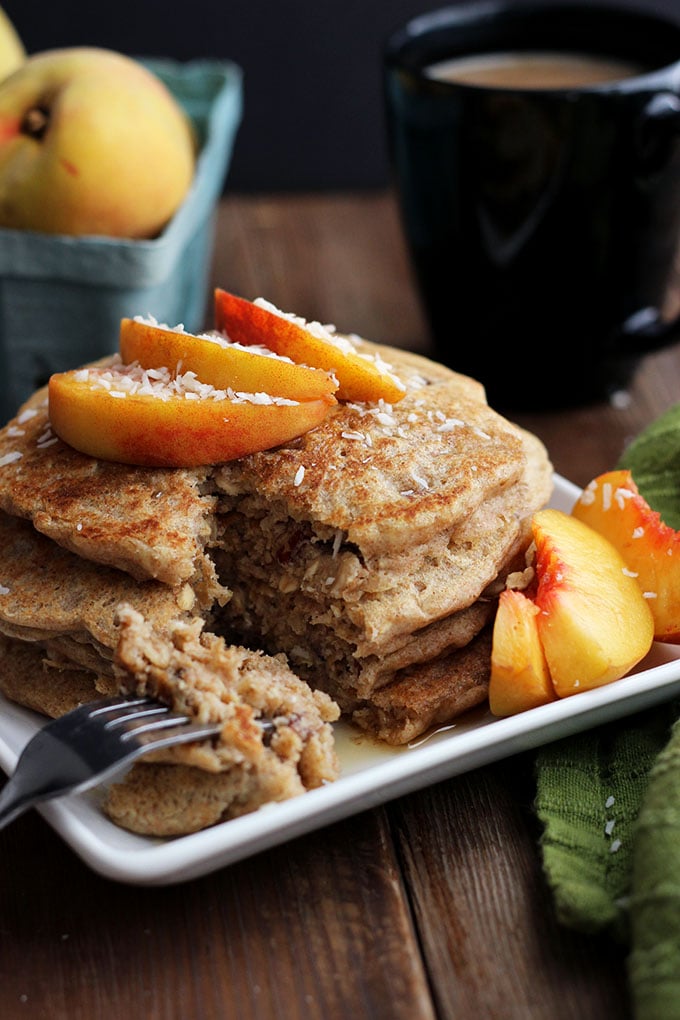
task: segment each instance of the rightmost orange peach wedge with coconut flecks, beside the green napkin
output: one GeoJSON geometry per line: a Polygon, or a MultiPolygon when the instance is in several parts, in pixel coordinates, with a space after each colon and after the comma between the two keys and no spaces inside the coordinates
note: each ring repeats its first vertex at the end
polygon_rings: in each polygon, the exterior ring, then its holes
{"type": "Polygon", "coordinates": [[[631,472],[593,478],[572,513],[619,550],[647,599],[657,641],[680,644],[680,531],[651,509],[631,472]]]}

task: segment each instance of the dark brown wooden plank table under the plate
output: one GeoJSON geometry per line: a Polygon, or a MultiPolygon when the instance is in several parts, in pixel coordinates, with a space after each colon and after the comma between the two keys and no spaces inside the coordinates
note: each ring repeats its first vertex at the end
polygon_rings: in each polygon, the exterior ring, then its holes
{"type": "MultiPolygon", "coordinates": [[[[232,196],[213,282],[426,351],[386,194],[232,196]]],[[[680,399],[677,349],[627,406],[521,421],[579,484],[680,399]]],[[[91,872],[38,814],[0,833],[0,1017],[625,1020],[625,956],[556,924],[532,755],[185,884],[91,872]]]]}

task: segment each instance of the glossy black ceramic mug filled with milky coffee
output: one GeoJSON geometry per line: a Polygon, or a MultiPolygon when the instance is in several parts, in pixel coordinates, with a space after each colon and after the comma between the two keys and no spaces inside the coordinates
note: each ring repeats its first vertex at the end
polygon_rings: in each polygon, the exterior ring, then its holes
{"type": "Polygon", "coordinates": [[[680,340],[680,19],[465,2],[397,32],[384,69],[438,360],[499,408],[555,408],[680,340]]]}

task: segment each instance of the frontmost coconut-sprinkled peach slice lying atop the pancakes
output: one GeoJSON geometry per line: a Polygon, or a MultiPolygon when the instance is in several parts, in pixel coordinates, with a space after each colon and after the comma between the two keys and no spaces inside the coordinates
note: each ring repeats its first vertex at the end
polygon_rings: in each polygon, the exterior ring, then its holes
{"type": "MultiPolygon", "coordinates": [[[[60,372],[49,381],[56,435],[81,453],[149,467],[195,467],[268,450],[318,425],[332,397],[228,399],[192,376],[139,366],[60,372]],[[161,377],[162,375],[162,377],[161,377]],[[188,388],[194,384],[194,393],[188,388]],[[182,386],[186,386],[182,389],[182,386]]],[[[253,397],[253,395],[251,395],[253,397]]]]}

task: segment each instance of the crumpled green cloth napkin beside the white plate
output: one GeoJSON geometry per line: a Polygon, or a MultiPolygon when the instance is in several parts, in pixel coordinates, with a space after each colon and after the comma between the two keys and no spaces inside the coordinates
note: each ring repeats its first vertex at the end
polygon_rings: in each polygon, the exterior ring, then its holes
{"type": "MultiPolygon", "coordinates": [[[[680,404],[617,466],[680,529],[680,404]]],[[[629,944],[636,1020],[680,1020],[680,700],[541,749],[535,773],[559,920],[629,944]]]]}

